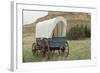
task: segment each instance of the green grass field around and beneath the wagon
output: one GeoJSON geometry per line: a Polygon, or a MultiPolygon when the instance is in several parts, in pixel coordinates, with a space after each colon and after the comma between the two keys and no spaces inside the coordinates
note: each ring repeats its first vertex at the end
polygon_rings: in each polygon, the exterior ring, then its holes
{"type": "MultiPolygon", "coordinates": [[[[33,35],[33,34],[32,34],[33,35]]],[[[33,55],[31,51],[32,43],[35,41],[34,37],[29,34],[24,34],[23,39],[23,62],[39,62],[47,61],[41,55],[33,55]]],[[[69,41],[69,55],[68,57],[58,55],[55,53],[54,56],[50,56],[48,61],[61,61],[61,60],[85,60],[91,59],[91,43],[90,39],[84,40],[71,40],[69,41]]]]}

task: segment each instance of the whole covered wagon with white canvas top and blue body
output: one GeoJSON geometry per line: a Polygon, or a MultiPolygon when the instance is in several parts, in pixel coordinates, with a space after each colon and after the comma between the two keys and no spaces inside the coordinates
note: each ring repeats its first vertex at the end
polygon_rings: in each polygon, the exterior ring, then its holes
{"type": "Polygon", "coordinates": [[[66,36],[67,22],[62,16],[38,22],[36,24],[36,43],[32,45],[32,52],[49,54],[58,50],[60,53],[69,54],[66,36]],[[35,49],[33,49],[35,48],[35,49]]]}

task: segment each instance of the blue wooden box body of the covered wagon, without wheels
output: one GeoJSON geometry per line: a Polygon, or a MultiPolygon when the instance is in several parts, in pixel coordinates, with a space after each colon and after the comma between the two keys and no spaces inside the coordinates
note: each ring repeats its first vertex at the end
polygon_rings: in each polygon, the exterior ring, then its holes
{"type": "MultiPolygon", "coordinates": [[[[66,47],[66,37],[52,37],[52,38],[44,38],[47,39],[49,48],[57,48],[57,47],[66,47]]],[[[43,39],[37,38],[36,42],[39,45],[43,44],[43,39]]]]}

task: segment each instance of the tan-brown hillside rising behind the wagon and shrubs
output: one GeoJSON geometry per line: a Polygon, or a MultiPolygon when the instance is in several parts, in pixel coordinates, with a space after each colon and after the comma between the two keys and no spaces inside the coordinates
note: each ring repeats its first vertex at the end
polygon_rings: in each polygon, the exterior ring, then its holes
{"type": "Polygon", "coordinates": [[[76,25],[87,25],[90,28],[91,16],[88,13],[79,13],[79,12],[56,12],[49,11],[47,16],[37,19],[34,23],[23,25],[24,32],[33,33],[35,32],[35,27],[38,22],[55,18],[57,16],[63,16],[67,21],[67,30],[76,25]]]}

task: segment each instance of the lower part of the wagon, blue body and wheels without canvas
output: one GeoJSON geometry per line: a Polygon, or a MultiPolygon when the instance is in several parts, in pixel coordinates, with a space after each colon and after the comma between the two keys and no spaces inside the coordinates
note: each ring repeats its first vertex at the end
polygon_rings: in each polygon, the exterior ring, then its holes
{"type": "Polygon", "coordinates": [[[50,54],[57,53],[58,55],[67,58],[69,54],[69,45],[65,37],[53,38],[37,38],[36,42],[32,45],[32,53],[35,55],[43,55],[50,58],[50,54]]]}

